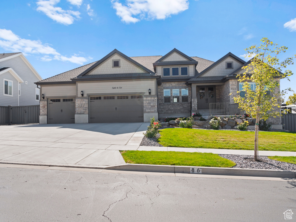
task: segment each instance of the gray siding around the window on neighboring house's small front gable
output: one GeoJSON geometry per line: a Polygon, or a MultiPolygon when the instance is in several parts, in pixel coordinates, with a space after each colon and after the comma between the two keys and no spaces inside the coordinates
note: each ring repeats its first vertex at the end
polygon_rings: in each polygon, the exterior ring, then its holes
{"type": "Polygon", "coordinates": [[[9,72],[6,72],[0,75],[0,106],[9,106],[9,105],[17,106],[17,83],[18,81],[9,72]],[[13,96],[4,96],[3,79],[12,81],[13,96]]]}

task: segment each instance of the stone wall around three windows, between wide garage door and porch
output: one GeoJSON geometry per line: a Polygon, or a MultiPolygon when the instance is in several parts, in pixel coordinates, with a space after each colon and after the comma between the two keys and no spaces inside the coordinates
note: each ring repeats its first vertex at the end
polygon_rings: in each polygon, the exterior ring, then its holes
{"type": "Polygon", "coordinates": [[[162,82],[161,86],[157,86],[158,90],[158,113],[173,114],[173,113],[190,113],[191,112],[191,89],[186,86],[185,81],[180,82],[162,82]],[[180,103],[173,103],[173,91],[170,91],[171,103],[164,103],[164,89],[180,89],[180,103]],[[188,102],[182,103],[181,89],[188,89],[188,102]]]}

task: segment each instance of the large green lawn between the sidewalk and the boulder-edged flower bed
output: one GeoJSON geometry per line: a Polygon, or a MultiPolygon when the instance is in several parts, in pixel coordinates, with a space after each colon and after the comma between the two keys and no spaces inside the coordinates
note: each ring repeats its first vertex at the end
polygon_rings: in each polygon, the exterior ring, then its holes
{"type": "MultiPolygon", "coordinates": [[[[254,149],[254,132],[166,128],[158,143],[165,147],[254,149]]],[[[296,151],[295,132],[259,132],[259,150],[296,151]]]]}

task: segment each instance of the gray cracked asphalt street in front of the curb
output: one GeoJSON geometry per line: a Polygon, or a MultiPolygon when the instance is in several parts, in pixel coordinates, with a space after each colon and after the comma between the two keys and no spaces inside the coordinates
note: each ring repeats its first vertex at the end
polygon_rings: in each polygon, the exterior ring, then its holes
{"type": "Polygon", "coordinates": [[[1,167],[0,221],[286,221],[295,191],[295,180],[1,167]]]}

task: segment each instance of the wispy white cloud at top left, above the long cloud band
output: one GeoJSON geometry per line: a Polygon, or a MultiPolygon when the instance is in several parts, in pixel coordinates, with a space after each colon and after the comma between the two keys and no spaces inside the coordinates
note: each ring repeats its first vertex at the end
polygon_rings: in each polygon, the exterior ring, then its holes
{"type": "MultiPolygon", "coordinates": [[[[52,20],[63,25],[73,24],[75,19],[80,19],[80,12],[72,10],[63,10],[61,7],[54,7],[60,0],[39,0],[37,11],[43,12],[52,20]]],[[[74,2],[74,0],[72,0],[74,2]]]]}

